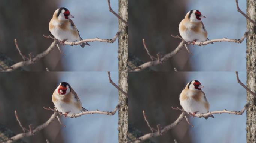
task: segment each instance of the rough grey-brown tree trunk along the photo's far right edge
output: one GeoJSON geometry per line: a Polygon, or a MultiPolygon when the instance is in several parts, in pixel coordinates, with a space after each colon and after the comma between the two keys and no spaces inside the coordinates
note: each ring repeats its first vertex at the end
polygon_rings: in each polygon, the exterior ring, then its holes
{"type": "MultiPolygon", "coordinates": [[[[256,20],[256,0],[247,0],[247,15],[256,20]]],[[[247,71],[247,87],[256,92],[256,27],[247,20],[247,29],[250,30],[247,37],[247,49],[246,49],[246,71],[247,71]]],[[[256,100],[253,95],[247,92],[247,102],[250,102],[247,109],[247,121],[246,121],[246,142],[256,143],[256,100]]]]}

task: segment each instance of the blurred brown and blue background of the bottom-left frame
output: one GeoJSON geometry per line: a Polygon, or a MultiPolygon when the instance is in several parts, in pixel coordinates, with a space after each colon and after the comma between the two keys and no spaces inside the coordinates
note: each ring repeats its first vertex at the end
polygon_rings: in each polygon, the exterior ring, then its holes
{"type": "MultiPolygon", "coordinates": [[[[111,72],[118,83],[118,72],[111,72]]],[[[22,133],[16,121],[24,127],[45,123],[53,114],[43,107],[54,108],[52,93],[60,82],[68,82],[89,111],[113,111],[118,104],[118,90],[109,83],[107,72],[20,72],[0,74],[0,124],[15,134],[22,133]],[[77,78],[79,77],[79,78],[77,78]]],[[[118,113],[114,116],[90,114],[78,118],[61,117],[65,128],[54,120],[27,143],[117,143],[118,113]]]]}

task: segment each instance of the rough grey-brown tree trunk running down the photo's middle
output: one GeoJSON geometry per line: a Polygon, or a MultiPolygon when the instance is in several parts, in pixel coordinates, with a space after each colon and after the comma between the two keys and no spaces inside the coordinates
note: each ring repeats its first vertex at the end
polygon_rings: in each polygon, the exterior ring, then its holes
{"type": "MultiPolygon", "coordinates": [[[[119,16],[128,21],[128,0],[119,0],[119,16]]],[[[119,87],[128,92],[128,26],[119,20],[119,31],[121,34],[118,38],[118,71],[119,87]]],[[[119,102],[122,106],[118,112],[118,142],[127,143],[128,140],[128,98],[119,92],[119,102]]]]}

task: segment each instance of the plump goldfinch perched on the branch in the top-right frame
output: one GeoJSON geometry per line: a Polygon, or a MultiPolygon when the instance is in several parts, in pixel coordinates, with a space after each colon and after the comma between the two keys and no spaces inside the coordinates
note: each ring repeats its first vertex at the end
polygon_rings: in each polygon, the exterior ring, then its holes
{"type": "Polygon", "coordinates": [[[199,10],[190,10],[179,24],[180,36],[186,41],[195,44],[196,41],[206,41],[207,31],[201,18],[206,18],[199,10]]]}

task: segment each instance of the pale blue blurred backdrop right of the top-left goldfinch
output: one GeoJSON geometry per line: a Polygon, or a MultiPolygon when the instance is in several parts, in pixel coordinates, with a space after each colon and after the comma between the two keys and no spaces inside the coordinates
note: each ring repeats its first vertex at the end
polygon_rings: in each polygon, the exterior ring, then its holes
{"type": "MultiPolygon", "coordinates": [[[[118,19],[109,12],[107,0],[61,0],[59,7],[66,7],[75,17],[72,20],[83,39],[112,39],[118,32],[118,19]]],[[[111,0],[111,7],[118,12],[118,1],[111,0]]],[[[85,48],[79,45],[62,48],[66,54],[60,59],[64,71],[118,71],[118,39],[112,44],[89,44],[85,48]]]]}

